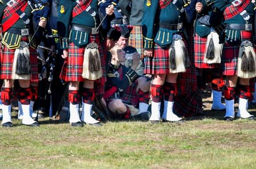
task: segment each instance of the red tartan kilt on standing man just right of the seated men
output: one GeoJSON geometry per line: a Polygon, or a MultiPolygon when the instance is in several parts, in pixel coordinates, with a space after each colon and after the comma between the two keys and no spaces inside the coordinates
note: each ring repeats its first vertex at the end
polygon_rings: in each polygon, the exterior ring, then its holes
{"type": "Polygon", "coordinates": [[[162,49],[155,43],[153,57],[145,57],[145,74],[168,74],[169,48],[162,49]]]}

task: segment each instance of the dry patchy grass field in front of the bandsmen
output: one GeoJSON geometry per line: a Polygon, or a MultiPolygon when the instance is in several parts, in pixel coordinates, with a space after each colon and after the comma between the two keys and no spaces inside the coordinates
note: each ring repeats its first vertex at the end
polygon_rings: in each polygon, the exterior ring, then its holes
{"type": "Polygon", "coordinates": [[[210,111],[209,100],[205,116],[184,124],[71,128],[44,118],[30,128],[13,119],[13,128],[0,128],[0,168],[256,168],[256,121],[223,121],[225,112],[210,111]]]}

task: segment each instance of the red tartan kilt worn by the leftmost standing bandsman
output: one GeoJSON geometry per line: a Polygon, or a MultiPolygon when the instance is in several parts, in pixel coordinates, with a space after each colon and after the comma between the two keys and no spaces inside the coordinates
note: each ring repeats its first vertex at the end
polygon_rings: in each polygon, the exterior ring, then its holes
{"type": "MultiPolygon", "coordinates": [[[[29,39],[25,36],[22,37],[22,41],[28,42],[29,39]]],[[[30,63],[31,63],[31,78],[30,82],[38,82],[38,60],[36,56],[36,49],[29,48],[30,51],[30,63]]],[[[8,49],[3,45],[3,50],[1,52],[1,69],[0,78],[1,79],[11,79],[11,73],[13,71],[13,59],[14,59],[15,49],[8,49]]]]}

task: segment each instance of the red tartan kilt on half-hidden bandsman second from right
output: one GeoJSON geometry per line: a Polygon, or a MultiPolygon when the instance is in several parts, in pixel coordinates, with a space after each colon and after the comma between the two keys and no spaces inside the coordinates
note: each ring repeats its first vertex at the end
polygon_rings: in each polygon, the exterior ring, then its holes
{"type": "Polygon", "coordinates": [[[197,68],[214,68],[216,64],[205,64],[204,55],[206,48],[207,36],[194,36],[194,66],[197,68]]]}

